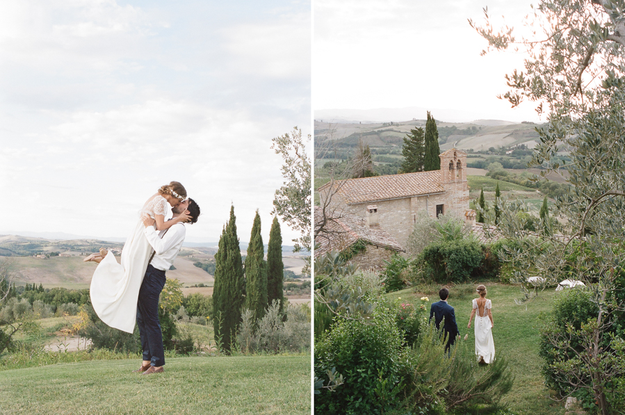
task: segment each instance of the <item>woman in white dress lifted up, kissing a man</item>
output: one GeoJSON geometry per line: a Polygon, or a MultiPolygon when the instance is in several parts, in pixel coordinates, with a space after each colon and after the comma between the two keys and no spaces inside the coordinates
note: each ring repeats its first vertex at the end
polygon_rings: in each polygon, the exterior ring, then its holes
{"type": "Polygon", "coordinates": [[[98,317],[107,325],[123,332],[133,332],[139,288],[154,252],[143,234],[143,219],[149,215],[156,220],[156,230],[159,231],[169,229],[174,223],[184,222],[188,218],[184,213],[167,222],[165,215],[168,213],[168,204],[178,206],[185,198],[184,187],[172,181],[145,202],[139,212],[137,225],[124,244],[121,264],[117,263],[112,252],[106,252],[104,248],[84,259],[98,263],[91,279],[91,304],[98,317]]]}

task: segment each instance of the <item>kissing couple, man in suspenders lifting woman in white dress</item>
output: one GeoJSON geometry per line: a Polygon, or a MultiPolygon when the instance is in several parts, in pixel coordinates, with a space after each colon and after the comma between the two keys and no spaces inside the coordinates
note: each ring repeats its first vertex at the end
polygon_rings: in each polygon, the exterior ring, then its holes
{"type": "Polygon", "coordinates": [[[143,363],[136,370],[163,372],[165,352],[159,322],[159,295],[165,271],[178,256],[186,235],[185,223],[197,222],[200,206],[177,181],[159,188],[139,212],[139,220],[117,263],[112,252],[101,249],[85,261],[98,263],[91,279],[91,304],[107,325],[132,333],[139,327],[143,363]],[[171,206],[172,218],[165,220],[171,206]]]}

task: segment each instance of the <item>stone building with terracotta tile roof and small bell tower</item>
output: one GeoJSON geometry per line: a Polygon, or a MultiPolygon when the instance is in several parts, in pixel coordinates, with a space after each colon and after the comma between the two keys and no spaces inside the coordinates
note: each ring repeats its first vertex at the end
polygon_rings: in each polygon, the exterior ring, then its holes
{"type": "MultiPolygon", "coordinates": [[[[320,221],[334,220],[361,229],[354,225],[359,223],[383,231],[404,251],[421,211],[430,218],[454,213],[464,218],[467,225],[475,226],[476,212],[469,209],[466,153],[453,148],[439,157],[441,170],[346,179],[321,186],[320,205],[325,209],[316,209],[316,227],[321,226],[320,221]]],[[[336,224],[332,226],[337,229],[336,224]]],[[[330,231],[318,238],[325,239],[321,241],[324,252],[345,249],[345,236],[339,238],[339,234],[330,231]]],[[[387,246],[396,250],[393,244],[387,246]]]]}

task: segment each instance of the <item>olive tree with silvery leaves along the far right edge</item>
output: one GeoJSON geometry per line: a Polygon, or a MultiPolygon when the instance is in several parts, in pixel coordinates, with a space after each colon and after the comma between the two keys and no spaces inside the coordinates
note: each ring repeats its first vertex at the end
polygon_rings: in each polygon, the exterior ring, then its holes
{"type": "MultiPolygon", "coordinates": [[[[521,38],[508,26],[493,29],[487,9],[484,12],[482,26],[469,20],[489,41],[482,53],[515,47],[526,54],[523,68],[505,75],[510,90],[500,98],[512,106],[532,101],[548,121],[537,128],[540,143],[530,165],[541,166],[542,177],[560,173],[571,185],[569,193],[556,198],[551,218],[542,218],[542,226],[531,234],[523,231],[517,215],[524,206],[503,202],[498,231],[526,237],[530,245],[508,252],[508,259],[523,263],[519,269],[524,273],[517,272],[517,279],[525,289],[524,300],[560,279],[579,279],[587,285],[598,312],[578,333],[587,348],[577,363],[591,382],[571,386],[589,389],[606,415],[606,384],[625,369],[593,363],[618,361],[622,352],[617,343],[608,341],[607,348],[601,343],[615,313],[623,309],[614,291],[625,259],[625,1],[539,1],[527,17],[529,35],[521,38]],[[555,158],[562,150],[570,161],[555,158]],[[556,216],[568,221],[558,234],[553,233],[556,216]],[[540,277],[536,286],[528,283],[531,276],[540,277]]],[[[487,222],[492,219],[486,215],[487,222]]],[[[565,339],[553,343],[567,347],[565,339]]],[[[565,364],[556,369],[576,378],[565,364]]]]}

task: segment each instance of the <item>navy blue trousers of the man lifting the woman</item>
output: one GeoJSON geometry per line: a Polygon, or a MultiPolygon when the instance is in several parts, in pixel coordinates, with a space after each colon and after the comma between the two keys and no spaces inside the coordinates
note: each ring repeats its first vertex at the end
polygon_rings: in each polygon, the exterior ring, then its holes
{"type": "Polygon", "coordinates": [[[143,360],[152,366],[165,364],[163,333],[159,320],[159,296],[165,286],[165,271],[147,265],[137,302],[137,325],[141,336],[143,360]]]}

